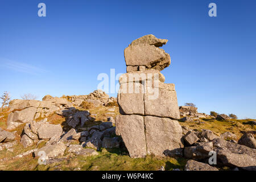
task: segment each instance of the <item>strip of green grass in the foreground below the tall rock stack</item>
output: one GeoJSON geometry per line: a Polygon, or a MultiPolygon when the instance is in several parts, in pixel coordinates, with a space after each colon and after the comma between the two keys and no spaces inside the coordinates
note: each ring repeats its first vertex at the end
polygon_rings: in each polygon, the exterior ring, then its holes
{"type": "Polygon", "coordinates": [[[156,158],[155,156],[146,156],[146,158],[131,159],[128,155],[123,155],[120,150],[102,151],[98,156],[71,156],[67,160],[57,162],[48,165],[39,165],[35,170],[56,170],[61,169],[74,170],[80,168],[82,171],[155,171],[161,166],[164,166],[166,170],[172,170],[174,168],[183,169],[186,159],[174,159],[174,158],[156,158]]]}

